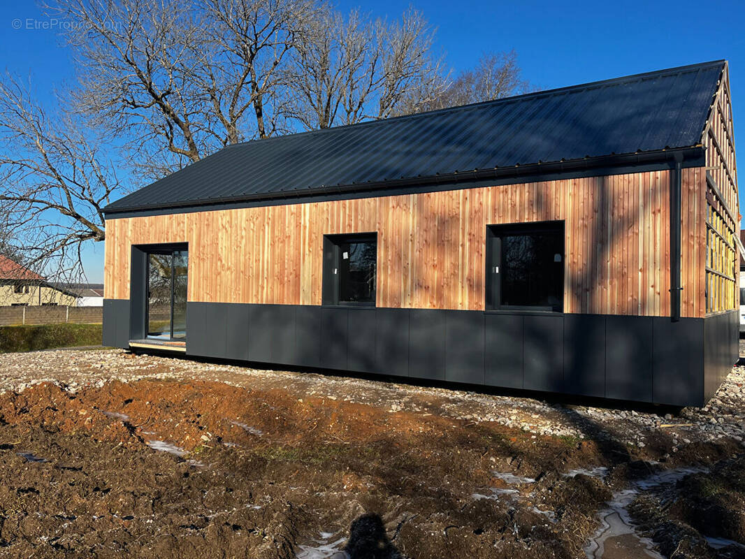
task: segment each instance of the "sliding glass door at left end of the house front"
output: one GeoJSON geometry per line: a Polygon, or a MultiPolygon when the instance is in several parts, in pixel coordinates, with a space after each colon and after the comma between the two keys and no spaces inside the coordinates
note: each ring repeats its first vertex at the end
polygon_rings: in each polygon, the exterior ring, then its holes
{"type": "Polygon", "coordinates": [[[188,252],[148,253],[148,338],[186,339],[188,252]]]}

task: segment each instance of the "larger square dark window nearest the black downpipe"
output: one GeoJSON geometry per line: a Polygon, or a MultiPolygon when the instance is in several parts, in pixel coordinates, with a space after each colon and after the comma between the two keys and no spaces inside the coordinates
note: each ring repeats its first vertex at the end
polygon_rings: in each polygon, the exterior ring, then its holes
{"type": "Polygon", "coordinates": [[[564,222],[486,229],[486,308],[562,312],[564,222]]]}

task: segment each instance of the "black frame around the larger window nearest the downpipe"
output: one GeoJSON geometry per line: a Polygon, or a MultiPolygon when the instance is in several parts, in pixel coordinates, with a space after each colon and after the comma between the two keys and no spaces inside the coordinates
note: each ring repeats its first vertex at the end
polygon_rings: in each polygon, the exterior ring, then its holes
{"type": "Polygon", "coordinates": [[[489,224],[486,226],[486,310],[501,312],[537,312],[562,314],[564,312],[564,279],[566,276],[565,221],[532,221],[529,223],[489,224]],[[505,305],[502,303],[502,259],[501,239],[506,236],[522,236],[530,233],[557,233],[562,239],[561,251],[561,300],[553,306],[505,305]]]}

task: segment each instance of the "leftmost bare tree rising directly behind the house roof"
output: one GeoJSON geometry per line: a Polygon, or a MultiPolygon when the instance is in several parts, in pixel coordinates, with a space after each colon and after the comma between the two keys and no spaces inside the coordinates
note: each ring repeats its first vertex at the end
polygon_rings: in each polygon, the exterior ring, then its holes
{"type": "Polygon", "coordinates": [[[63,0],[49,7],[71,25],[80,87],[77,109],[124,139],[149,174],[215,149],[203,119],[207,95],[192,74],[203,22],[176,0],[63,0]]]}

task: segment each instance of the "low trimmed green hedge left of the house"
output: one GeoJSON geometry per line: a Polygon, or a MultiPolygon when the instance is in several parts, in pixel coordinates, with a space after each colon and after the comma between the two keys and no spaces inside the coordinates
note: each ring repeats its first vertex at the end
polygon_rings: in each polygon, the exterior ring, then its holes
{"type": "Polygon", "coordinates": [[[101,344],[101,324],[0,326],[0,353],[101,344]]]}

